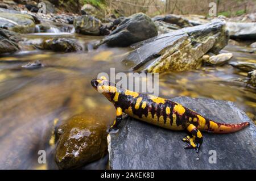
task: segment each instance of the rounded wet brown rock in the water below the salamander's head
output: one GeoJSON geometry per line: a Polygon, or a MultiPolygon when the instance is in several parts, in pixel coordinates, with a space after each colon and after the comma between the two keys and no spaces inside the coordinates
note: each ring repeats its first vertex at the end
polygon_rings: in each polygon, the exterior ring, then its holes
{"type": "MultiPolygon", "coordinates": [[[[104,117],[98,116],[103,120],[104,117]]],[[[59,142],[55,160],[60,169],[83,166],[104,157],[107,150],[106,125],[92,116],[77,115],[57,130],[59,142]]]]}

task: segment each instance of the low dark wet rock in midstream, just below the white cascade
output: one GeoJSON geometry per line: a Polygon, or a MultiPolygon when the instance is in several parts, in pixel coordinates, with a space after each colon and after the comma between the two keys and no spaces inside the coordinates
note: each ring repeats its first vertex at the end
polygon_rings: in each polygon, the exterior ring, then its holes
{"type": "Polygon", "coordinates": [[[53,38],[44,40],[41,49],[53,50],[55,52],[76,52],[82,50],[81,45],[73,39],[53,38]]]}

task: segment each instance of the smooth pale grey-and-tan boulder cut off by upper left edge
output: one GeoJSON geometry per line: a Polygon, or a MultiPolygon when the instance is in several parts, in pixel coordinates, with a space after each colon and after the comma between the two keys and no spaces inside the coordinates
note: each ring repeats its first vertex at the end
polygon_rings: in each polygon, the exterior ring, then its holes
{"type": "Polygon", "coordinates": [[[35,20],[27,14],[1,12],[0,28],[19,33],[33,33],[35,31],[35,20]]]}

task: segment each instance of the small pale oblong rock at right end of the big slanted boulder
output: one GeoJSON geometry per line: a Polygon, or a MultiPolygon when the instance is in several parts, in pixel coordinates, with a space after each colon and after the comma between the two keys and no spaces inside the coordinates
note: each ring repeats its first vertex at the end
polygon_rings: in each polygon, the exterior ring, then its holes
{"type": "Polygon", "coordinates": [[[207,60],[204,60],[204,64],[212,66],[221,66],[226,64],[233,57],[232,53],[221,53],[216,56],[211,56],[207,60]]]}

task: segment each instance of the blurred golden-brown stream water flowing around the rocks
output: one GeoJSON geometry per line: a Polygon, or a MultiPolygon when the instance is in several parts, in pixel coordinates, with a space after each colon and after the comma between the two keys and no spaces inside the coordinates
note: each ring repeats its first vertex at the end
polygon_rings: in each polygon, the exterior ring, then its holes
{"type": "MultiPolygon", "coordinates": [[[[131,49],[103,47],[93,50],[92,43],[102,37],[75,33],[36,33],[27,38],[40,42],[53,36],[74,38],[88,51],[56,53],[35,50],[27,44],[21,52],[0,57],[1,168],[54,168],[52,154],[47,157],[47,165],[38,163],[38,150],[52,153],[54,142],[51,142],[51,136],[56,120],[66,120],[88,110],[95,119],[102,112],[109,115],[106,120],[97,120],[108,124],[115,117],[112,104],[92,89],[90,80],[100,72],[109,73],[110,68],[127,73],[129,68],[122,64],[122,58],[131,49]],[[36,60],[44,67],[35,70],[21,67],[36,60]]],[[[255,54],[241,52],[243,49],[244,46],[228,45],[222,52],[232,52],[231,61],[256,62],[255,54]]],[[[230,100],[255,121],[255,89],[240,81],[246,75],[230,65],[203,66],[182,73],[167,72],[159,75],[159,93],[164,98],[192,96],[230,100]]],[[[93,167],[97,169],[97,165],[93,167]]]]}

